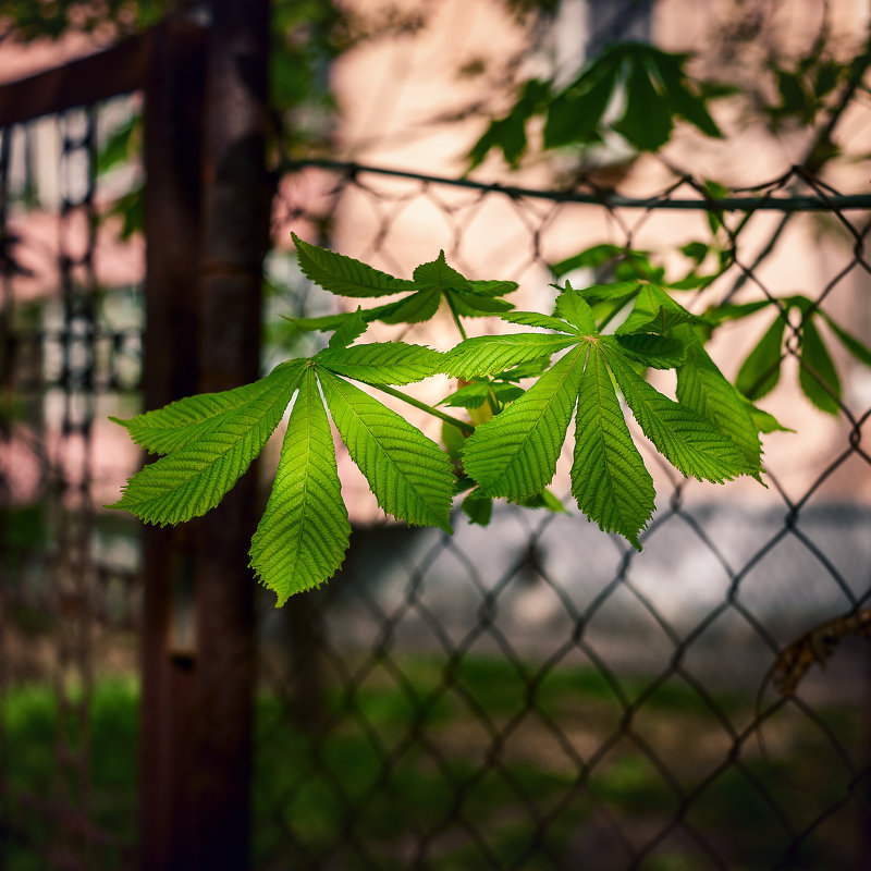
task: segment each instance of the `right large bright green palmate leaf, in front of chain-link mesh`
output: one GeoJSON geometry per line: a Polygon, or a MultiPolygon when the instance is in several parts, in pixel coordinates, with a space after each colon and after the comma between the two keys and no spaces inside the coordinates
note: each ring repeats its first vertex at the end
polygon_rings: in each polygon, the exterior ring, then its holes
{"type": "MultiPolygon", "coordinates": [[[[691,332],[684,330],[683,338],[673,339],[593,334],[590,308],[571,287],[559,298],[557,312],[571,317],[584,334],[503,338],[520,347],[548,347],[549,353],[560,348],[549,347],[548,342],[572,343],[574,347],[466,441],[464,469],[479,483],[483,495],[522,501],[540,492],[553,477],[577,403],[573,494],[580,510],[602,529],[619,532],[640,549],[638,533],[653,513],[655,493],[623,418],[617,388],[645,434],[684,475],[710,481],[738,475],[758,477],[757,431],[752,421],[748,436],[736,421],[723,419],[732,404],[740,406],[740,396],[707,355],[712,371],[706,371],[706,380],[683,384],[684,394],[699,406],[698,413],[659,393],[630,363],[648,359],[665,368],[683,364],[686,345],[695,341],[691,332]],[[531,342],[533,338],[538,341],[531,342]],[[631,347],[625,346],[627,340],[631,347]],[[721,391],[724,384],[731,391],[725,400],[721,391]],[[728,398],[734,403],[729,404],[728,398]]],[[[551,329],[557,326],[555,318],[540,323],[551,329]]],[[[487,375],[491,366],[502,363],[501,353],[493,339],[468,340],[447,355],[449,371],[487,375]]],[[[699,355],[696,361],[701,365],[699,355]]],[[[743,407],[737,410],[744,412],[743,407]]]]}

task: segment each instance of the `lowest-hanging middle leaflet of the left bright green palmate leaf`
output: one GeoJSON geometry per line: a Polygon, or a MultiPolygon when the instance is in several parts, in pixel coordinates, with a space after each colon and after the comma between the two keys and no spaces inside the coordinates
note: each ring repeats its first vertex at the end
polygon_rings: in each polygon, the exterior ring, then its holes
{"type": "Polygon", "coordinates": [[[317,587],[335,573],[349,536],[330,424],[309,367],[291,412],[269,502],[252,539],[250,565],[282,605],[292,593],[317,587]]]}

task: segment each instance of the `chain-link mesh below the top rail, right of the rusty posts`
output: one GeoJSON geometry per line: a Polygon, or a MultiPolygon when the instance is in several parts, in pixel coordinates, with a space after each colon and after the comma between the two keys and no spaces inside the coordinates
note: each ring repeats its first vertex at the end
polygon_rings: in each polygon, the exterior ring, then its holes
{"type": "MultiPolygon", "coordinates": [[[[274,230],[400,275],[443,248],[547,310],[549,265],[596,243],[679,269],[673,252],[710,237],[701,191],[682,176],[631,201],[294,165],[274,230]]],[[[800,293],[867,341],[868,204],[799,169],[732,196],[729,266],[687,305],[800,293]]],[[[269,267],[277,310],[338,310],[292,259],[269,267]]],[[[824,379],[799,320],[776,318],[783,383],[763,404],[797,433],[766,438],[768,489],[687,481],[647,454],[659,508],[640,554],[571,510],[505,507],[486,530],[457,516],[453,537],[397,528],[343,469],[357,520],[345,566],[284,616],[263,611],[261,867],[862,867],[871,396],[833,351],[835,414],[813,409],[797,376],[824,379]]],[[[731,376],[771,320],[715,342],[731,376]]],[[[456,341],[446,318],[389,334],[456,341]]],[[[320,341],[272,338],[274,354],[320,341]]]]}

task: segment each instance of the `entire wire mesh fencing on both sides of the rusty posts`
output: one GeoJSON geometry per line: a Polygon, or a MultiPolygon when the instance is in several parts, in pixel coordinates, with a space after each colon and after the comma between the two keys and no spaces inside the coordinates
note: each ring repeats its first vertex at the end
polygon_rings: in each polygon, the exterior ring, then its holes
{"type": "MultiPolygon", "coordinates": [[[[139,462],[107,417],[139,408],[143,253],[99,219],[118,191],[97,161],[128,110],[101,103],[0,139],[12,869],[127,867],[136,842],[142,553],[137,526],[100,507],[139,462]],[[28,169],[37,127],[57,144],[53,194],[28,169]]],[[[553,263],[609,243],[676,274],[680,247],[710,241],[722,212],[728,269],[689,308],[802,294],[871,338],[871,204],[800,169],[715,203],[682,173],[631,196],[345,163],[282,173],[265,368],[321,342],[280,315],[338,305],[299,274],[290,230],[402,275],[443,248],[469,278],[520,282],[518,307],[547,309],[553,263]]],[[[712,354],[731,377],[766,311],[722,328],[712,354]]],[[[768,487],[686,481],[646,453],[659,510],[640,554],[572,508],[565,463],[565,514],[505,506],[488,528],[458,515],[447,537],[379,519],[340,458],[355,527],[344,567],[281,611],[258,600],[256,868],[867,866],[871,381],[823,324],[841,391],[833,414],[812,408],[801,372],[831,376],[802,358],[796,311],[776,317],[781,384],[762,404],[796,432],[766,437],[768,487]]],[[[383,335],[456,340],[446,318],[383,335]]],[[[450,387],[420,389],[436,402],[450,387]]]]}

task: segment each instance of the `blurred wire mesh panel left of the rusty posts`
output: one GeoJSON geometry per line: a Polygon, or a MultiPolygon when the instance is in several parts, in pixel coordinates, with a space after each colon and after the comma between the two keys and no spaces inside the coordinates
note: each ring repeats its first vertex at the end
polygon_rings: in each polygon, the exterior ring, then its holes
{"type": "Polygon", "coordinates": [[[140,275],[128,259],[126,286],[111,287],[116,265],[97,269],[98,237],[118,235],[100,220],[106,111],[111,120],[118,106],[0,131],[0,856],[9,868],[132,860],[134,796],[123,774],[113,780],[119,761],[133,774],[135,721],[115,724],[113,745],[100,720],[111,720],[113,699],[133,698],[128,679],[113,692],[102,678],[134,663],[138,541],[99,506],[113,465],[136,464],[119,456],[103,421],[125,396],[137,407],[140,275]],[[46,149],[57,162],[34,159],[46,149]]]}

